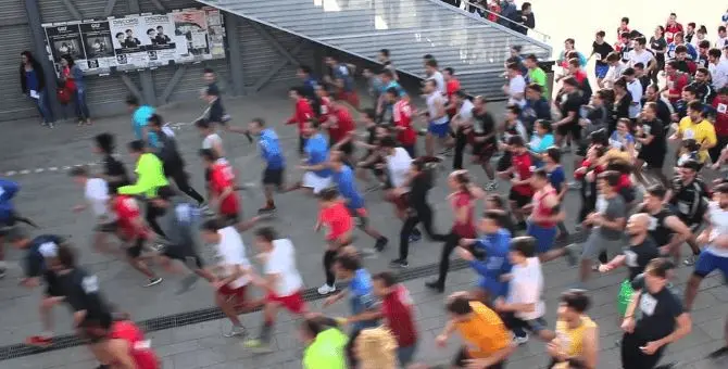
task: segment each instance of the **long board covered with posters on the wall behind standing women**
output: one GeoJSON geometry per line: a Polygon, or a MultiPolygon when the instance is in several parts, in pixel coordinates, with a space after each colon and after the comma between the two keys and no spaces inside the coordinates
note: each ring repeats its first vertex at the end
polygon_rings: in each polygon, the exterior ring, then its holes
{"type": "Polygon", "coordinates": [[[71,55],[87,75],[225,59],[223,14],[214,8],[42,24],[48,58],[71,55]]]}

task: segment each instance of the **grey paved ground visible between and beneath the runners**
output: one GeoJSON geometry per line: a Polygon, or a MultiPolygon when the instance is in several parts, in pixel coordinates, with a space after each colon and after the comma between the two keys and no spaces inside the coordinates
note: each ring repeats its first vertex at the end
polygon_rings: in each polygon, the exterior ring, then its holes
{"type": "MultiPolygon", "coordinates": [[[[298,162],[296,153],[297,133],[293,127],[284,127],[281,122],[291,113],[291,103],[284,99],[286,86],[273,86],[260,94],[246,98],[227,98],[225,104],[233,116],[233,124],[247,124],[253,117],[264,117],[274,126],[281,137],[288,157],[287,173],[289,180],[296,180],[300,173],[294,168],[298,162]]],[[[502,112],[502,104],[492,104],[491,109],[502,112]]],[[[202,112],[202,103],[187,103],[185,105],[164,106],[160,110],[167,122],[186,123],[194,119],[202,112]]],[[[80,263],[96,272],[101,280],[101,289],[108,300],[120,308],[130,313],[136,320],[164,317],[172,314],[208,308],[213,305],[212,289],[200,283],[192,291],[177,296],[174,291],[179,277],[166,276],[165,282],[153,288],[143,289],[141,276],[131,270],[125,263],[102,256],[90,251],[89,238],[92,226],[89,214],[76,215],[71,208],[83,201],[81,190],[76,188],[65,176],[67,167],[77,164],[93,163],[97,158],[91,153],[92,137],[109,131],[115,133],[118,140],[120,153],[130,165],[125,153],[124,144],[130,140],[131,129],[127,116],[99,119],[91,127],[76,127],[75,124],[59,125],[54,130],[40,127],[36,122],[15,122],[3,126],[7,132],[0,137],[0,176],[17,180],[22,190],[16,199],[17,208],[28,217],[37,220],[43,232],[71,234],[76,247],[81,251],[80,263]]],[[[185,154],[187,167],[192,177],[194,187],[202,186],[202,169],[196,155],[200,147],[200,138],[193,127],[181,126],[177,130],[179,145],[185,154]]],[[[263,168],[254,145],[247,142],[244,137],[227,135],[224,137],[228,157],[239,170],[241,182],[260,181],[260,171],[263,168]]],[[[564,166],[572,171],[572,156],[566,155],[564,166]]],[[[484,182],[485,174],[479,167],[470,168],[474,176],[484,182]]],[[[430,191],[430,202],[439,212],[436,214],[437,227],[445,231],[451,224],[451,214],[445,202],[447,189],[443,171],[439,178],[439,186],[430,191]]],[[[498,192],[505,193],[507,186],[502,183],[498,192]]],[[[360,184],[360,188],[363,186],[360,184]]],[[[263,202],[260,190],[241,193],[244,213],[253,215],[263,202]]],[[[283,234],[289,237],[298,249],[298,266],[303,275],[307,288],[317,288],[323,282],[321,268],[321,251],[323,234],[313,232],[315,221],[315,201],[302,193],[289,193],[278,198],[278,216],[271,220],[283,234]]],[[[387,262],[397,255],[397,239],[400,221],[391,212],[391,206],[384,203],[378,193],[366,195],[367,206],[373,214],[373,225],[385,236],[390,238],[390,247],[377,259],[365,260],[373,270],[387,269],[387,262]]],[[[570,192],[565,201],[567,225],[574,225],[578,211],[578,194],[570,192]]],[[[570,228],[572,226],[569,226],[570,228]]],[[[249,234],[243,239],[250,244],[249,234]]],[[[373,241],[372,241],[373,242],[373,241]]],[[[359,234],[357,245],[368,246],[369,239],[359,234]]],[[[249,245],[250,246],[250,245],[249,245]]],[[[249,251],[250,252],[250,251],[249,251]]],[[[210,257],[211,251],[205,250],[204,256],[210,257]]],[[[410,263],[412,267],[437,263],[440,245],[423,240],[412,247],[410,263]]],[[[8,259],[17,260],[21,254],[9,250],[8,259]]],[[[676,283],[687,280],[691,269],[681,267],[676,283]]],[[[28,291],[17,287],[17,278],[22,271],[15,266],[9,276],[0,280],[0,346],[16,344],[30,334],[40,330],[37,306],[40,292],[28,291]]],[[[576,269],[569,268],[562,260],[553,262],[544,267],[547,279],[545,298],[549,306],[547,316],[550,323],[554,322],[556,298],[558,294],[576,279],[576,269]]],[[[430,278],[430,277],[427,277],[430,278]]],[[[613,342],[619,335],[616,323],[614,301],[618,283],[624,273],[595,277],[588,287],[592,290],[594,306],[591,316],[597,318],[601,329],[602,356],[600,368],[618,368],[619,353],[613,342]]],[[[442,307],[442,295],[432,294],[424,290],[426,278],[407,282],[417,304],[417,319],[422,331],[421,346],[417,359],[424,362],[447,361],[454,353],[455,345],[445,349],[436,349],[434,338],[445,321],[442,307]]],[[[448,291],[468,289],[475,280],[469,270],[453,272],[449,278],[448,291]]],[[[708,278],[703,285],[703,292],[698,297],[694,309],[693,332],[687,339],[669,348],[668,356],[686,362],[687,368],[726,368],[728,362],[713,365],[701,361],[704,354],[720,345],[723,323],[728,314],[728,289],[723,280],[716,277],[708,278]]],[[[314,308],[321,307],[321,302],[312,303],[314,308]]],[[[344,305],[327,308],[327,314],[344,315],[344,305]]],[[[243,321],[258,330],[261,321],[259,313],[243,317],[243,321]]],[[[70,332],[70,314],[64,308],[55,309],[57,332],[70,332]]],[[[253,356],[239,345],[236,339],[222,338],[223,330],[228,322],[214,320],[171,330],[152,332],[153,346],[164,357],[165,369],[185,368],[300,368],[301,345],[297,342],[296,323],[286,314],[280,315],[281,321],[277,327],[277,351],[271,355],[253,356]]],[[[512,358],[510,368],[536,368],[548,362],[544,356],[543,344],[530,342],[520,347],[512,358]]],[[[0,369],[4,368],[93,368],[89,353],[84,347],[42,353],[17,359],[0,361],[0,369]]]]}

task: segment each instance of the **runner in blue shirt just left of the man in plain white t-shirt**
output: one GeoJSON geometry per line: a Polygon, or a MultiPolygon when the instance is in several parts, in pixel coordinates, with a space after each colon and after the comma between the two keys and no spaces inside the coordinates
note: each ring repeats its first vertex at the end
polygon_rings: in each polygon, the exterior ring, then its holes
{"type": "Polygon", "coordinates": [[[486,211],[478,224],[481,238],[463,239],[457,247],[460,257],[480,275],[477,289],[472,294],[484,304],[490,304],[495,298],[505,296],[507,292],[509,285],[503,281],[503,276],[511,272],[512,267],[509,260],[511,232],[503,228],[502,221],[501,212],[486,211]],[[478,260],[474,251],[485,252],[484,259],[478,260]]]}

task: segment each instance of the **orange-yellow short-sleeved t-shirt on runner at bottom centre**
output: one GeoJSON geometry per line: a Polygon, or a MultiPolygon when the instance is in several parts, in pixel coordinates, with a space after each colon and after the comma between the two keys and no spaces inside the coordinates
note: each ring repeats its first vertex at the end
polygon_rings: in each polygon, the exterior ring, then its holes
{"type": "Polygon", "coordinates": [[[498,314],[479,302],[470,302],[470,307],[473,318],[455,325],[466,342],[467,353],[474,358],[485,358],[507,347],[512,342],[511,332],[498,314]]]}

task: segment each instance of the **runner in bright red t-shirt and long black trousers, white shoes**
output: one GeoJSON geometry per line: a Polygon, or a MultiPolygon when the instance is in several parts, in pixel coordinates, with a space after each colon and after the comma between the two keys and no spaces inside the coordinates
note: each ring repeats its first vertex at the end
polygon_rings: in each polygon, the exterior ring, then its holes
{"type": "Polygon", "coordinates": [[[326,295],[336,291],[334,260],[336,255],[352,241],[354,221],[336,189],[327,188],[318,194],[318,218],[314,230],[326,227],[326,251],[324,252],[324,272],[326,282],[318,288],[318,294],[326,295]]]}

